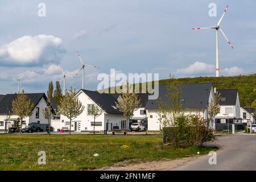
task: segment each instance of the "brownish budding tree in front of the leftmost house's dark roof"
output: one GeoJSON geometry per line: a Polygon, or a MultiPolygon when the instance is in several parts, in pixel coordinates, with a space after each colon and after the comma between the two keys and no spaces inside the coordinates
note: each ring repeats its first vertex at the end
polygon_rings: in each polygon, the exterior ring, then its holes
{"type": "Polygon", "coordinates": [[[32,109],[34,108],[34,103],[30,101],[30,98],[24,93],[18,93],[18,96],[12,102],[13,113],[18,115],[20,119],[20,135],[22,130],[22,119],[30,117],[32,115],[32,109]]]}

